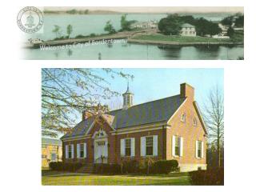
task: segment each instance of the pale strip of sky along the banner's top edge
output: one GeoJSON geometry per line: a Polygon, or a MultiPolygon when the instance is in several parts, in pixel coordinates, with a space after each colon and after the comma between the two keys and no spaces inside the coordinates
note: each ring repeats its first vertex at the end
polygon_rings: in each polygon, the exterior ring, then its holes
{"type": "Polygon", "coordinates": [[[242,12],[242,6],[46,6],[46,10],[110,10],[130,13],[166,13],[166,12],[188,12],[188,13],[220,13],[220,12],[242,12]]]}

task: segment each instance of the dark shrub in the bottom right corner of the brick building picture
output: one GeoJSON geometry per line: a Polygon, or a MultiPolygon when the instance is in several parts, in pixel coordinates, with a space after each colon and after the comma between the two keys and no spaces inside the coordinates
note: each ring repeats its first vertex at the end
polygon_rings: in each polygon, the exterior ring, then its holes
{"type": "Polygon", "coordinates": [[[224,168],[192,171],[190,178],[196,186],[223,186],[224,168]]]}

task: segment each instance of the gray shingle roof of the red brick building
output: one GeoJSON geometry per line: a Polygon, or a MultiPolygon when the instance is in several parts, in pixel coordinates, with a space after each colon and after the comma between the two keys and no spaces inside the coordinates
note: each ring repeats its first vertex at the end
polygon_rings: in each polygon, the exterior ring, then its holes
{"type": "MultiPolygon", "coordinates": [[[[181,98],[178,94],[169,98],[131,106],[127,110],[113,110],[106,114],[114,116],[111,125],[116,130],[154,122],[165,122],[178,110],[178,107],[182,105],[185,99],[181,98]]],[[[77,126],[74,126],[74,131],[71,134],[65,134],[62,138],[73,138],[86,134],[86,130],[89,129],[93,122],[94,118],[88,118],[79,122],[77,126]]]]}

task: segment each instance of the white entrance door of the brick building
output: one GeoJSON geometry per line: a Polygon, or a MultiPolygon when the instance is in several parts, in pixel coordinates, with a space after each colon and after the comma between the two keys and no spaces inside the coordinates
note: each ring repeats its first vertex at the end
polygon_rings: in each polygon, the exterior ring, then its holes
{"type": "Polygon", "coordinates": [[[94,140],[94,162],[107,162],[107,139],[94,140]]]}

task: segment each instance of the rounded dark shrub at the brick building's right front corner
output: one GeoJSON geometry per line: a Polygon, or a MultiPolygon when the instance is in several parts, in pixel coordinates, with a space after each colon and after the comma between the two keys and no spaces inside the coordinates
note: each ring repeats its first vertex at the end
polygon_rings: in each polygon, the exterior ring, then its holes
{"type": "Polygon", "coordinates": [[[177,170],[178,161],[177,160],[160,160],[154,162],[151,169],[153,174],[169,174],[171,171],[177,170]]]}

